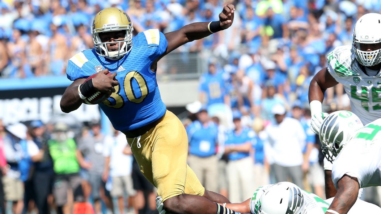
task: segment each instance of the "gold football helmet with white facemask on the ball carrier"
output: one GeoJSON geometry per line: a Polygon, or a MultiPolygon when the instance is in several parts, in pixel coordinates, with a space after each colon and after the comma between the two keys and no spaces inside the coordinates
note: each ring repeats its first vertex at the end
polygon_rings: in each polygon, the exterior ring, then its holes
{"type": "Polygon", "coordinates": [[[131,51],[132,48],[132,22],[130,17],[118,8],[106,8],[96,14],[93,26],[91,27],[91,34],[93,34],[94,49],[100,56],[107,57],[108,59],[118,60],[126,53],[131,51]],[[107,50],[107,44],[116,42],[102,42],[99,38],[99,33],[125,30],[126,34],[124,40],[119,42],[117,51],[107,50]]]}

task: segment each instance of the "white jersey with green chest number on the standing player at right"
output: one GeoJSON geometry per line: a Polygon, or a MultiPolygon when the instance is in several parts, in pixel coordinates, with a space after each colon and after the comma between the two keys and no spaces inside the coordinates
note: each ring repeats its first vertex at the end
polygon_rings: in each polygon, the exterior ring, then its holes
{"type": "Polygon", "coordinates": [[[351,111],[365,125],[381,118],[381,72],[371,77],[360,66],[351,45],[339,46],[328,54],[328,72],[343,84],[351,111]]]}

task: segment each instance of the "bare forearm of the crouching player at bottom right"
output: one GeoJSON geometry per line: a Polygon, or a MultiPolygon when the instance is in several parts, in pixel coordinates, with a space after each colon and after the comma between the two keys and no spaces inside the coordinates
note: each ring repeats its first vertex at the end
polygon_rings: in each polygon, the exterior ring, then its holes
{"type": "MultiPolygon", "coordinates": [[[[337,184],[338,191],[328,209],[340,214],[347,214],[359,195],[359,182],[357,178],[344,175],[337,184]]],[[[331,212],[326,212],[331,213],[331,212]]]]}

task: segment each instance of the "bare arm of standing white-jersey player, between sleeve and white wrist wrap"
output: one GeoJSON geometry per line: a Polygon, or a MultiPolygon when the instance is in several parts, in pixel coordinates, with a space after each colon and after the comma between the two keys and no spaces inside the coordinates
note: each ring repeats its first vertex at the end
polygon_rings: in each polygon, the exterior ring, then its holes
{"type": "Polygon", "coordinates": [[[311,80],[308,91],[309,102],[313,100],[323,102],[325,90],[337,84],[338,82],[328,72],[328,68],[323,68],[311,80]]]}

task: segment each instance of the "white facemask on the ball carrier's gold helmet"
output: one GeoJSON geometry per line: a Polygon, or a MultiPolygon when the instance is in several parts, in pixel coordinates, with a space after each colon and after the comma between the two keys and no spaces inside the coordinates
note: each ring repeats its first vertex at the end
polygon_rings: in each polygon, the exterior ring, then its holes
{"type": "Polygon", "coordinates": [[[133,31],[132,26],[129,26],[129,25],[119,26],[118,24],[114,24],[112,26],[104,26],[98,29],[91,29],[91,32],[93,33],[94,48],[96,50],[96,53],[99,56],[103,56],[111,60],[119,60],[125,54],[131,51],[132,31],[133,31]],[[99,37],[99,33],[110,32],[110,31],[120,31],[120,30],[125,30],[126,32],[124,40],[114,41],[114,42],[102,42],[101,38],[99,37]],[[117,51],[109,51],[107,49],[107,44],[111,44],[111,43],[119,43],[117,51]]]}

